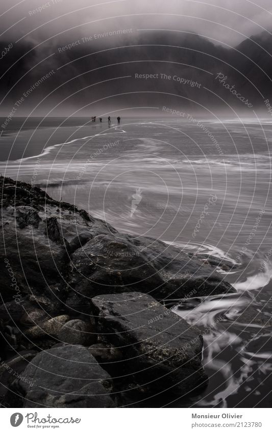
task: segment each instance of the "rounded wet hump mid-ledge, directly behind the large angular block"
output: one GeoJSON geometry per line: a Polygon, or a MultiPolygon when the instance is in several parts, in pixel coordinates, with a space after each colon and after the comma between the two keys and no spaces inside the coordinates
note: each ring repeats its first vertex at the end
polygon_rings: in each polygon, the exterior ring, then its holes
{"type": "Polygon", "coordinates": [[[149,291],[164,284],[134,245],[111,235],[92,238],[73,254],[72,264],[71,286],[85,293],[91,289],[93,295],[135,287],[149,291]]]}

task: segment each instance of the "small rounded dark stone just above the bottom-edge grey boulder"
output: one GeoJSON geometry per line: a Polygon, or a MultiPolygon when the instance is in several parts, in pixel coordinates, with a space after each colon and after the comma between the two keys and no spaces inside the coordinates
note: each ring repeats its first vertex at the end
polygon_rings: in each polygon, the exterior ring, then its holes
{"type": "Polygon", "coordinates": [[[88,346],[97,340],[97,335],[90,322],[73,319],[61,327],[58,339],[67,344],[88,346]]]}

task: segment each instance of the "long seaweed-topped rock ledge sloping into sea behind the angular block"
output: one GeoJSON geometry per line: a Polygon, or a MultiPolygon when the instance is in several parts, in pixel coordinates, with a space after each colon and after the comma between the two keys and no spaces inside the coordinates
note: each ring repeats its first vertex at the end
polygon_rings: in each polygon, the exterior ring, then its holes
{"type": "Polygon", "coordinates": [[[0,266],[7,301],[35,289],[83,312],[104,293],[139,290],[162,300],[234,291],[213,266],[179,248],[118,233],[28,184],[7,178],[1,184],[0,266]]]}

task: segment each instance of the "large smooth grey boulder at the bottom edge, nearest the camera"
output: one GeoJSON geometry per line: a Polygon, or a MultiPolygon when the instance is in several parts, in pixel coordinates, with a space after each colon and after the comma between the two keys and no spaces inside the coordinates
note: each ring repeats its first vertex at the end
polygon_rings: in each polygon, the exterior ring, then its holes
{"type": "Polygon", "coordinates": [[[112,407],[112,380],[80,346],[61,346],[35,356],[19,381],[24,407],[112,407]]]}

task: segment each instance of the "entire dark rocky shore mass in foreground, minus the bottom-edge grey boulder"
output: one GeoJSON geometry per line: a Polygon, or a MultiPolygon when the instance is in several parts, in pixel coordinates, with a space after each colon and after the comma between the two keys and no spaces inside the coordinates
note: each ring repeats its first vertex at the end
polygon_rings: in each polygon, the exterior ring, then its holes
{"type": "Polygon", "coordinates": [[[160,302],[234,292],[221,261],[118,233],[23,182],[0,189],[0,357],[21,376],[0,371],[3,405],[137,406],[206,385],[199,330],[160,302]]]}

